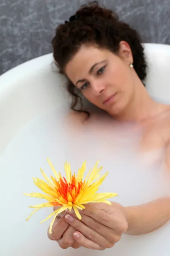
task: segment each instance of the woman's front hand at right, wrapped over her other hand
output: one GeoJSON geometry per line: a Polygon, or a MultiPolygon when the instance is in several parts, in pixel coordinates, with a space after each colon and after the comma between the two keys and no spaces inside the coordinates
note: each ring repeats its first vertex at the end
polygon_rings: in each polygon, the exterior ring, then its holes
{"type": "MultiPolygon", "coordinates": [[[[127,231],[124,207],[120,204],[88,204],[78,220],[73,213],[65,215],[65,221],[75,230],[73,238],[82,247],[94,250],[111,248],[127,231]]],[[[73,230],[72,230],[73,231],[73,230]]]]}

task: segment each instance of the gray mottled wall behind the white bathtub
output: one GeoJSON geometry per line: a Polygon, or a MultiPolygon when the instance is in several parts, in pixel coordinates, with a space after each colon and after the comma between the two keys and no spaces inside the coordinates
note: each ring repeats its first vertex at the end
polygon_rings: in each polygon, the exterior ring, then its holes
{"type": "MultiPolygon", "coordinates": [[[[0,0],[0,74],[52,51],[55,28],[88,0],[0,0]]],[[[144,42],[170,44],[170,0],[101,0],[144,42]]]]}

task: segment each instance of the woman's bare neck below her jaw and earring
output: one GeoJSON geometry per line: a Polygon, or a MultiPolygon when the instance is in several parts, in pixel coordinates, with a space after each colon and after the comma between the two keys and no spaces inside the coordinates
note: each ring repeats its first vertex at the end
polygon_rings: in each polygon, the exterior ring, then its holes
{"type": "Polygon", "coordinates": [[[133,96],[126,108],[119,115],[114,115],[118,121],[142,122],[165,111],[167,105],[155,102],[147,93],[142,81],[136,75],[133,96]]]}

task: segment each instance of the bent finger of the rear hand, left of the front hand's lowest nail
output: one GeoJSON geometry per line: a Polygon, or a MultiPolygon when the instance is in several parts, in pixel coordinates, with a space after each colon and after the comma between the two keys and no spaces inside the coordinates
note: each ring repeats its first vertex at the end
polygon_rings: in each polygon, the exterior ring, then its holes
{"type": "Polygon", "coordinates": [[[72,226],[69,226],[68,229],[65,231],[62,238],[59,240],[59,246],[62,249],[67,249],[68,247],[74,244],[75,242],[75,239],[73,236],[74,232],[76,232],[76,230],[72,226]]]}

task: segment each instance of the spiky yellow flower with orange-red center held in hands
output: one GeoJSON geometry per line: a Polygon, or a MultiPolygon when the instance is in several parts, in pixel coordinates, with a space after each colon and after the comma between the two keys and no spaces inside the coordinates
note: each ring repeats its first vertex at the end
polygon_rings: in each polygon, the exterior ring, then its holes
{"type": "Polygon", "coordinates": [[[102,167],[97,167],[99,161],[96,162],[92,171],[90,169],[84,181],[83,175],[86,169],[86,161],[82,164],[81,169],[79,169],[77,177],[75,177],[75,173],[74,175],[71,174],[70,164],[66,162],[64,164],[66,179],[65,177],[61,176],[60,172],[59,174],[56,172],[54,166],[49,159],[47,159],[47,161],[51,167],[52,172],[54,173],[54,177],[51,176],[50,180],[41,169],[41,173],[45,178],[46,182],[44,180],[40,180],[39,178],[33,178],[35,185],[39,189],[41,189],[42,192],[44,192],[46,195],[36,192],[33,192],[31,194],[24,193],[24,195],[28,195],[34,198],[46,199],[48,201],[48,203],[45,204],[30,206],[31,208],[35,208],[35,210],[31,213],[31,215],[29,215],[26,220],[28,220],[35,212],[37,212],[41,208],[61,206],[57,210],[52,212],[45,220],[40,222],[42,223],[54,215],[54,218],[52,219],[50,224],[49,233],[51,233],[56,216],[59,213],[65,211],[66,209],[69,209],[71,211],[71,209],[73,208],[75,214],[77,215],[77,218],[81,219],[82,217],[78,209],[85,209],[84,204],[99,202],[111,204],[111,202],[106,199],[115,197],[117,195],[116,193],[97,193],[99,186],[108,175],[108,172],[102,176],[99,174],[102,169],[102,167]]]}

